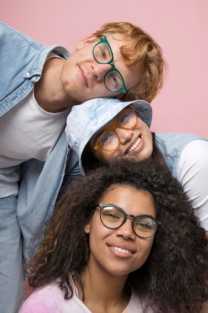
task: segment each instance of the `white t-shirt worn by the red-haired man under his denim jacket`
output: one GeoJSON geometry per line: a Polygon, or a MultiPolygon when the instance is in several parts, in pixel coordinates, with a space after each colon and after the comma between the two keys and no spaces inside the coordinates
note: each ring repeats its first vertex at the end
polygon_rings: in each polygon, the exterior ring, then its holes
{"type": "Polygon", "coordinates": [[[58,113],[43,110],[32,90],[0,117],[0,197],[18,193],[21,162],[47,159],[70,110],[70,107],[58,113]]]}

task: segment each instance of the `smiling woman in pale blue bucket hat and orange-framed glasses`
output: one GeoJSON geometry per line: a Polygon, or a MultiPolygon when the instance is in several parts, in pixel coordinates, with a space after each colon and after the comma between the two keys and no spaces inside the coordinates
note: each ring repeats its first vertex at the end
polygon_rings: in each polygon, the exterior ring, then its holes
{"type": "Polygon", "coordinates": [[[152,107],[143,100],[94,98],[73,106],[65,129],[82,174],[116,157],[153,158],[170,168],[208,233],[208,139],[189,133],[151,132],[152,107]]]}

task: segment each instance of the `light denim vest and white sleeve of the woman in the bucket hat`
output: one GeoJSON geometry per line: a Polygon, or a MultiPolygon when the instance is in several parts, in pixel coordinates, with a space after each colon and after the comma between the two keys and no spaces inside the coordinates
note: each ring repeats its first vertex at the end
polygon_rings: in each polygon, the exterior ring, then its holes
{"type": "Polygon", "coordinates": [[[156,133],[155,135],[156,144],[172,174],[192,199],[202,226],[208,230],[208,139],[190,133],[156,133]],[[206,142],[203,143],[202,140],[206,142]],[[182,154],[188,144],[191,147],[182,154]]]}

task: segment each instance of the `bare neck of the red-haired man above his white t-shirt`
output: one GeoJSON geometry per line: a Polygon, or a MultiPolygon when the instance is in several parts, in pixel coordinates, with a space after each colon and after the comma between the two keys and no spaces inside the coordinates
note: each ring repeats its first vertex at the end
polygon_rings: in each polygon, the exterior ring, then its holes
{"type": "Polygon", "coordinates": [[[39,81],[35,83],[35,99],[47,112],[61,112],[74,104],[66,97],[61,85],[60,74],[64,62],[58,57],[49,58],[43,66],[39,81]]]}

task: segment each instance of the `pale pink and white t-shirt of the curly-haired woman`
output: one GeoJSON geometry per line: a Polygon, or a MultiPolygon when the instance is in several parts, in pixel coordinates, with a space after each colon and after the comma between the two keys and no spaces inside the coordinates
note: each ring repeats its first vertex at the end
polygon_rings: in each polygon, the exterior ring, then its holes
{"type": "MultiPolygon", "coordinates": [[[[19,313],[91,313],[76,292],[71,299],[65,300],[61,289],[56,284],[49,284],[34,291],[23,303],[19,313]]],[[[136,292],[132,292],[127,307],[121,313],[143,313],[141,300],[136,292]]],[[[152,310],[148,313],[152,313],[152,310]]]]}

